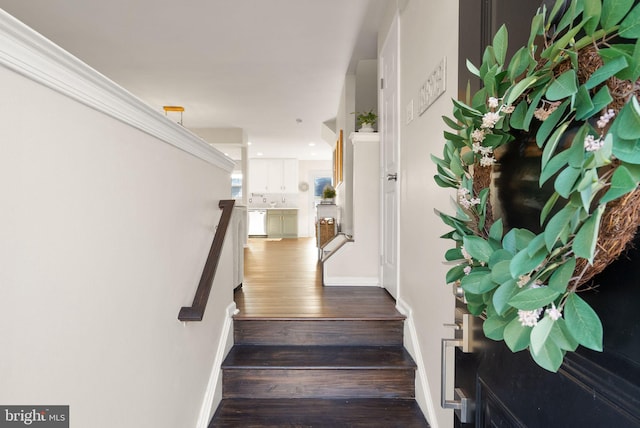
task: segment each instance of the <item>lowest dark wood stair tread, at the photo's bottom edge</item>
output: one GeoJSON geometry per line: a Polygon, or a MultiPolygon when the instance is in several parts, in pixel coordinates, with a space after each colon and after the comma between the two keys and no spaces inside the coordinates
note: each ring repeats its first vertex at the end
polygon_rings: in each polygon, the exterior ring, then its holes
{"type": "Polygon", "coordinates": [[[224,399],[209,428],[429,427],[415,400],[224,399]]]}

